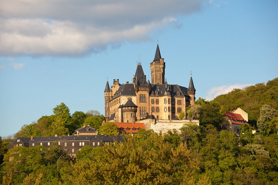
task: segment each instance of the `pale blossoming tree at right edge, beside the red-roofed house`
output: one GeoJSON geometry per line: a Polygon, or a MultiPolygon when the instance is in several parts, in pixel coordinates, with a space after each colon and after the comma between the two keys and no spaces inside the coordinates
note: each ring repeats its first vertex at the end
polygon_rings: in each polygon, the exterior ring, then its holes
{"type": "Polygon", "coordinates": [[[270,121],[277,117],[277,112],[270,105],[263,105],[260,108],[260,118],[257,122],[257,126],[260,129],[260,133],[264,136],[274,133],[275,128],[271,127],[270,121]]]}

